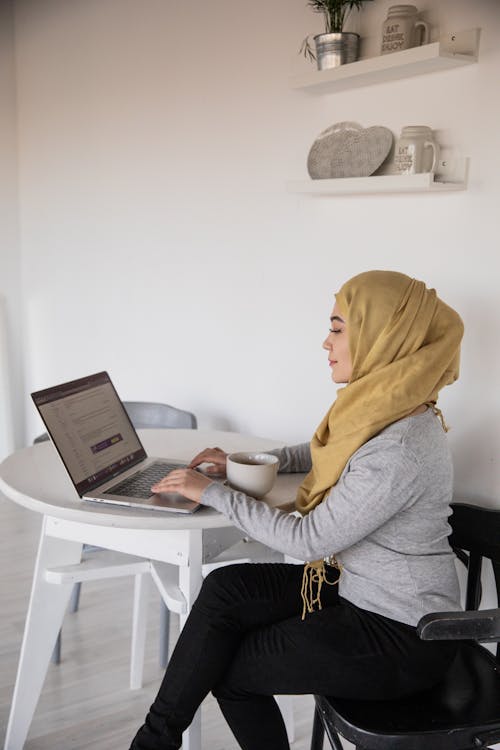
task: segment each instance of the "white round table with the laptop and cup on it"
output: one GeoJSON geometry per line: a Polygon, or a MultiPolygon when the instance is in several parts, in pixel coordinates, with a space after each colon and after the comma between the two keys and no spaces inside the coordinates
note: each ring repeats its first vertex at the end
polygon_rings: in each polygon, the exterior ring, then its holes
{"type": "MultiPolygon", "coordinates": [[[[283,445],[221,431],[140,430],[139,434],[148,455],[186,462],[206,447],[233,452],[283,445]]],[[[299,474],[278,475],[265,502],[277,506],[293,500],[301,479],[299,474]]],[[[227,518],[208,507],[186,515],[81,500],[49,442],[6,458],[0,464],[0,491],[44,516],[4,746],[4,750],[22,750],[74,580],[84,580],[71,579],[73,570],[78,575],[84,543],[135,556],[137,572],[151,575],[183,624],[201,586],[202,564],[242,535],[227,518]]],[[[198,717],[183,737],[183,750],[200,747],[198,717]]]]}

